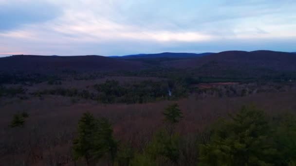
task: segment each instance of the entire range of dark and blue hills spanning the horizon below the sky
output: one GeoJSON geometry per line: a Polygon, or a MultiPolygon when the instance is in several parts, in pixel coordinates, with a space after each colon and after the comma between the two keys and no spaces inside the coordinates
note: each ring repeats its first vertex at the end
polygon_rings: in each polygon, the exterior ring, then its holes
{"type": "Polygon", "coordinates": [[[233,70],[296,71],[296,55],[269,50],[223,51],[219,53],[137,54],[104,57],[14,55],[0,58],[0,71],[61,72],[75,71],[138,71],[149,68],[180,68],[206,71],[233,70]]]}

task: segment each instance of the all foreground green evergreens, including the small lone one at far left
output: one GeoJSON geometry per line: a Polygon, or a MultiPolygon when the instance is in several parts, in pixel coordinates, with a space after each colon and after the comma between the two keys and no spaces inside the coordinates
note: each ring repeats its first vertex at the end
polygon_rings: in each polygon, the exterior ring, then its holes
{"type": "MultiPolygon", "coordinates": [[[[137,149],[131,140],[113,135],[110,119],[85,112],[77,122],[66,163],[96,166],[294,166],[296,164],[296,116],[268,116],[253,105],[219,118],[193,140],[178,133],[184,115],[177,103],[167,105],[162,123],[151,139],[137,149]],[[190,151],[188,151],[190,150],[190,151]],[[192,150],[192,151],[191,151],[192,150]],[[194,155],[195,154],[195,155],[194,155]]],[[[21,131],[30,118],[15,114],[10,127],[21,131]]],[[[192,138],[191,138],[192,139],[192,138]]],[[[59,165],[59,164],[57,164],[59,165]]]]}

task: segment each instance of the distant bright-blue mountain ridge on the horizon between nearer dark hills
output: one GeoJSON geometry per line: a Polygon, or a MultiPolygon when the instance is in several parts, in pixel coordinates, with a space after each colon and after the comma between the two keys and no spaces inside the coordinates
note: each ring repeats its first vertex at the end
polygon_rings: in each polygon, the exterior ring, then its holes
{"type": "Polygon", "coordinates": [[[194,58],[201,57],[205,55],[210,55],[212,52],[205,53],[176,53],[176,52],[163,52],[155,54],[135,54],[135,55],[125,55],[117,56],[119,59],[138,59],[138,58],[194,58]]]}

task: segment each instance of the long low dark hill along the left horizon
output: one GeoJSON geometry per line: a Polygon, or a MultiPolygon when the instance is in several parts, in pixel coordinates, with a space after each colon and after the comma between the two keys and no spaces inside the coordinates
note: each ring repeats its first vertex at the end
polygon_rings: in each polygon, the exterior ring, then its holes
{"type": "Polygon", "coordinates": [[[140,62],[129,62],[98,55],[86,56],[40,56],[14,55],[0,58],[0,71],[59,72],[135,70],[144,66],[140,62]]]}

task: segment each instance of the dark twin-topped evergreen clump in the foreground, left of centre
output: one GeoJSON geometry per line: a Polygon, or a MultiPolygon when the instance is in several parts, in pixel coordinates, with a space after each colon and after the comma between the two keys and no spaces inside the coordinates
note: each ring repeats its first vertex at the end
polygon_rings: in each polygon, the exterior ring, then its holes
{"type": "Polygon", "coordinates": [[[112,132],[108,119],[98,120],[92,114],[84,113],[78,122],[78,135],[73,140],[74,159],[83,157],[90,166],[109,154],[114,161],[117,144],[112,132]]]}

